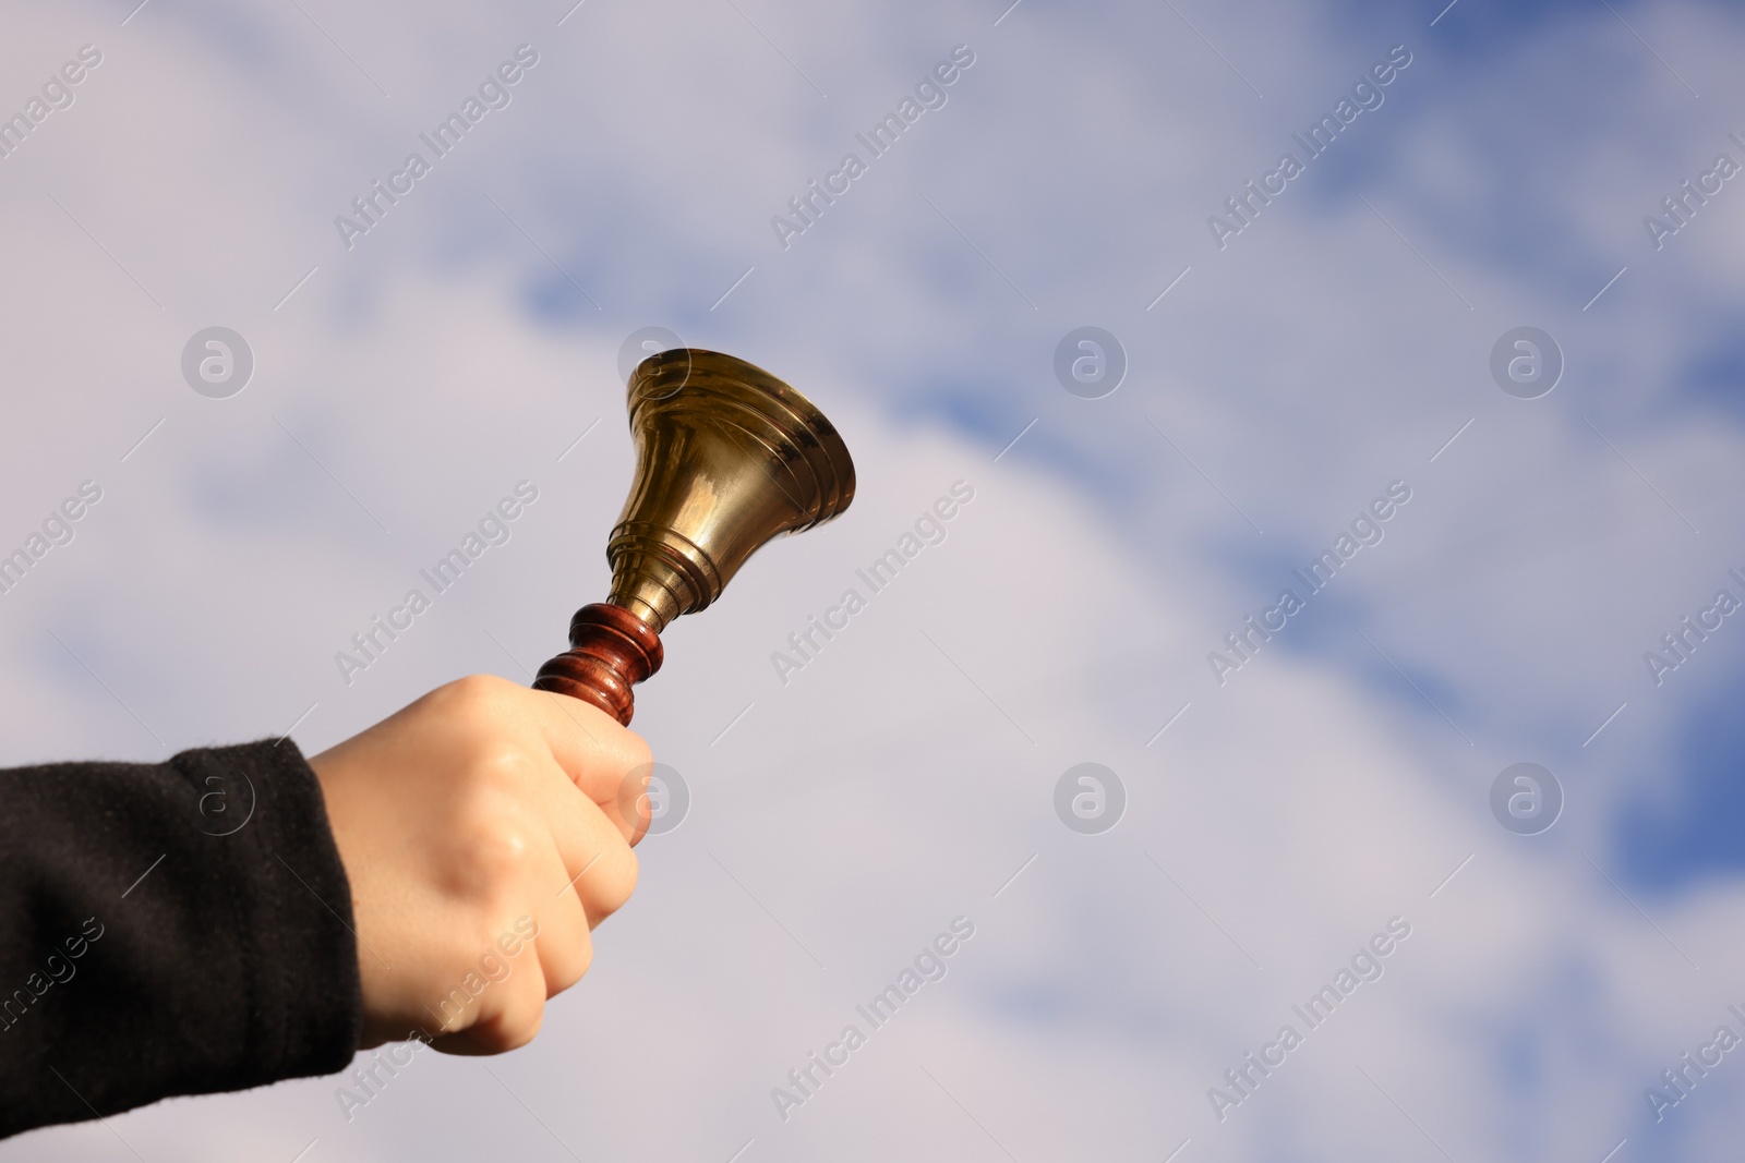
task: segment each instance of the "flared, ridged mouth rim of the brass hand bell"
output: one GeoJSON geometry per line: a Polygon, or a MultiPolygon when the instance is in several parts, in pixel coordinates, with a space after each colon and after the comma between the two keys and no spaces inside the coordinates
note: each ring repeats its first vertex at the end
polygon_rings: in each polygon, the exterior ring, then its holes
{"type": "Polygon", "coordinates": [[[756,439],[801,481],[815,481],[815,488],[808,488],[811,495],[796,499],[808,520],[790,534],[829,521],[855,499],[855,462],[836,425],[815,403],[757,364],[717,350],[674,347],[637,364],[628,394],[632,431],[644,408],[705,413],[756,439]]]}

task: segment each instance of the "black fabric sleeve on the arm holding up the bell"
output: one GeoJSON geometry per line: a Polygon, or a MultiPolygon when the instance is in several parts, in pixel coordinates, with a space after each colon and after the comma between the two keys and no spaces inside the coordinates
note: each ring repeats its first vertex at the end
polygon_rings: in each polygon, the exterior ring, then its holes
{"type": "Polygon", "coordinates": [[[351,888],[290,739],[0,771],[0,1137],[344,1069],[351,888]]]}

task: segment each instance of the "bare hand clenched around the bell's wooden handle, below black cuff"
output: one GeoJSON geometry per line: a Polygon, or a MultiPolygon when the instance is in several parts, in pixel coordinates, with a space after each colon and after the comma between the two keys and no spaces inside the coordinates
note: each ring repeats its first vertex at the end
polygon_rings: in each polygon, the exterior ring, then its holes
{"type": "Polygon", "coordinates": [[[489,675],[311,758],[351,881],[361,1048],[530,1041],[635,888],[647,799],[626,818],[619,786],[647,764],[609,715],[489,675]]]}

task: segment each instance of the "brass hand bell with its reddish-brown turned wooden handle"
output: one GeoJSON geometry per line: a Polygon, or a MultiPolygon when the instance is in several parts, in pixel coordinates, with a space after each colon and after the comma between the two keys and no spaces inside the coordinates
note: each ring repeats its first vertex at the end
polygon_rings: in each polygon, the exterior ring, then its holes
{"type": "Polygon", "coordinates": [[[743,359],[688,347],[649,356],[628,406],[637,471],[606,547],[611,596],[576,612],[571,649],[534,680],[623,724],[672,619],[721,596],[759,546],[831,520],[855,495],[836,427],[743,359]]]}

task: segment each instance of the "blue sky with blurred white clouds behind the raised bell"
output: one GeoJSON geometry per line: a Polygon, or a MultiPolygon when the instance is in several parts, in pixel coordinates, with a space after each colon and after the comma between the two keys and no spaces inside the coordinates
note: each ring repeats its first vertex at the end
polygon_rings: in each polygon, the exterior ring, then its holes
{"type": "Polygon", "coordinates": [[[609,586],[640,328],[804,392],[859,492],[665,631],[689,806],[529,1048],[0,1163],[1733,1147],[1736,5],[136,2],[0,16],[0,115],[49,106],[0,138],[0,549],[99,493],[0,595],[0,762],[529,682],[609,586]]]}

